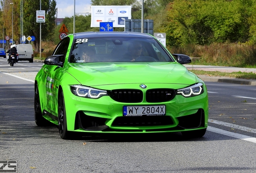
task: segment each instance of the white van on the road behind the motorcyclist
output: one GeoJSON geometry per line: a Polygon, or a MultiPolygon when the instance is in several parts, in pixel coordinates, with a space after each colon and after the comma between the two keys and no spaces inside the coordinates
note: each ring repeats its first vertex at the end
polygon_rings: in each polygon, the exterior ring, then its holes
{"type": "Polygon", "coordinates": [[[33,62],[34,52],[31,44],[18,44],[17,45],[18,60],[28,60],[33,62]]]}

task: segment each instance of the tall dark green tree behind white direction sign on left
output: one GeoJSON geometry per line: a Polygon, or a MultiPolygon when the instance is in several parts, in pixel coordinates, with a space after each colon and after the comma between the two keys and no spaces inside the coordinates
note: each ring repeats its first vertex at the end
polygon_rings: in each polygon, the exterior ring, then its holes
{"type": "MultiPolygon", "coordinates": [[[[24,33],[29,36],[35,36],[34,46],[35,50],[39,52],[40,23],[36,22],[36,10],[40,10],[40,1],[25,0],[23,13],[24,33]]],[[[45,23],[41,23],[41,38],[42,40],[47,40],[54,34],[52,31],[55,28],[56,1],[41,0],[41,10],[45,10],[45,23]]]]}

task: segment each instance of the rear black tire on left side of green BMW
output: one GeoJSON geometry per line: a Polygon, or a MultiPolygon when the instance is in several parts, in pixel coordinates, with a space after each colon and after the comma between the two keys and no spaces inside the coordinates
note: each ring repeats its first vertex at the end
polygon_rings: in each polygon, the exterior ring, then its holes
{"type": "Polygon", "coordinates": [[[34,99],[34,110],[35,110],[35,123],[39,127],[47,127],[49,125],[52,125],[50,121],[43,118],[42,111],[41,111],[41,105],[40,105],[40,99],[39,99],[39,91],[38,91],[38,85],[35,86],[35,99],[34,99]]]}

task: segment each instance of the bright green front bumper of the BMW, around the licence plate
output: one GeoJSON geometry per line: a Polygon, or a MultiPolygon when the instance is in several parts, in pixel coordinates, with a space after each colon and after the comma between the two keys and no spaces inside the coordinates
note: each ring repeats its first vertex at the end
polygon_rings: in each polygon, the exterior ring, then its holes
{"type": "Polygon", "coordinates": [[[159,133],[204,129],[208,125],[208,96],[176,95],[163,103],[120,103],[109,96],[87,99],[64,90],[68,131],[91,133],[159,133]],[[165,105],[164,116],[124,117],[123,106],[165,105]]]}

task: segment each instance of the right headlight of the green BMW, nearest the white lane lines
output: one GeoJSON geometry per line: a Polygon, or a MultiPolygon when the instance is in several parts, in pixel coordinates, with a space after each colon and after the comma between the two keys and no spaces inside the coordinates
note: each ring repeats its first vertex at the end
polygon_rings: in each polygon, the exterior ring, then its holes
{"type": "Polygon", "coordinates": [[[197,83],[184,89],[178,89],[177,94],[183,95],[184,97],[193,97],[200,95],[204,92],[202,85],[202,83],[197,83]]]}

